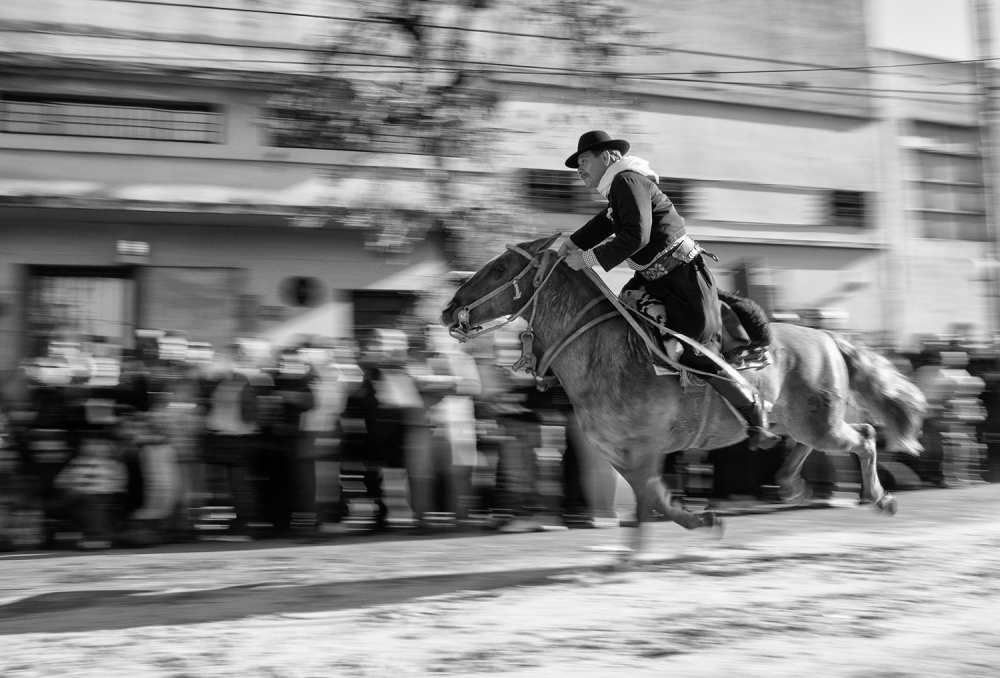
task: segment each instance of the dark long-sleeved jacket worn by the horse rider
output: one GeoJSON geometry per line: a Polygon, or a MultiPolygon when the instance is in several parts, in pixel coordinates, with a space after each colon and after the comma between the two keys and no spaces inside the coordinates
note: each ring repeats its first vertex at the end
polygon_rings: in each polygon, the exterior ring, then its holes
{"type": "Polygon", "coordinates": [[[649,178],[626,170],[611,180],[608,209],[579,228],[570,240],[593,250],[605,271],[628,260],[630,268],[649,264],[685,234],[684,218],[649,178]],[[615,236],[604,243],[606,238],[615,236]]]}

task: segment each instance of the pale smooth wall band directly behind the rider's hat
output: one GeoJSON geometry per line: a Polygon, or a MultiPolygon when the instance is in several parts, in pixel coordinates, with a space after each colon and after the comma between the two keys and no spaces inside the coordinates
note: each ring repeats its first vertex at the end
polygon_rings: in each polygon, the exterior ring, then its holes
{"type": "Polygon", "coordinates": [[[754,184],[873,190],[877,127],[870,120],[755,106],[667,99],[626,108],[524,91],[504,104],[516,130],[502,155],[522,167],[563,169],[579,136],[604,129],[662,176],[754,184]]]}

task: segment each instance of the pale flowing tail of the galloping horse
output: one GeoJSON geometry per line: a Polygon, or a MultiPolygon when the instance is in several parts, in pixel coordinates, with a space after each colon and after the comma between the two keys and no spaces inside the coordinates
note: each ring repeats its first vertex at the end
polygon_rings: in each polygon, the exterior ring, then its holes
{"type": "Polygon", "coordinates": [[[829,334],[847,363],[851,391],[858,403],[885,426],[888,449],[920,454],[923,448],[917,436],[927,408],[920,389],[885,357],[829,334]]]}

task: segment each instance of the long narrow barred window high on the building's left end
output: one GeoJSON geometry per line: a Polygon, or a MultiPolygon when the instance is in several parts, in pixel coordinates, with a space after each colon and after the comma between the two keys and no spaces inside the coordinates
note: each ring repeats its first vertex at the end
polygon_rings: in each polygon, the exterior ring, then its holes
{"type": "Polygon", "coordinates": [[[7,93],[0,132],[218,144],[224,118],[204,104],[7,93]]]}

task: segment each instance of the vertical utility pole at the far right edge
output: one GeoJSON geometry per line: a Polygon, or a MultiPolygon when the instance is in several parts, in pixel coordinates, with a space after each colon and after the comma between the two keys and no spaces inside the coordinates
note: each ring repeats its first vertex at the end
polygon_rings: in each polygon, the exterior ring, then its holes
{"type": "MultiPolygon", "coordinates": [[[[987,318],[990,336],[1000,333],[1000,190],[997,175],[997,115],[996,115],[996,69],[990,67],[993,52],[993,24],[991,5],[995,0],[972,0],[972,22],[976,38],[976,89],[979,99],[979,134],[983,158],[983,189],[986,205],[986,237],[988,259],[983,271],[988,286],[987,318]]],[[[995,340],[994,340],[995,341],[995,340]]]]}

